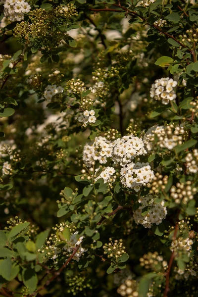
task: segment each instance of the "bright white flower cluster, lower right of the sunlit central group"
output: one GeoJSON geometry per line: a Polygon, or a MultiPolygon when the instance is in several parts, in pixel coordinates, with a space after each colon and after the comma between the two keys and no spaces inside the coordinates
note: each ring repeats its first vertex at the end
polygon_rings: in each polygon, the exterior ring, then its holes
{"type": "Polygon", "coordinates": [[[154,178],[154,173],[150,169],[149,163],[130,163],[120,171],[121,183],[127,188],[132,188],[136,192],[141,186],[146,186],[154,178]]]}

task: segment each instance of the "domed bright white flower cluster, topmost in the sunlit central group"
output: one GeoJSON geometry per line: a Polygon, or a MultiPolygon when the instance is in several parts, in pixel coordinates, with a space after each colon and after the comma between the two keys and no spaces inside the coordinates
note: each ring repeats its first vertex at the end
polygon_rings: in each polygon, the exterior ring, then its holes
{"type": "Polygon", "coordinates": [[[118,138],[113,142],[112,159],[115,164],[124,166],[132,162],[136,156],[145,154],[147,151],[144,146],[142,138],[133,135],[118,138]]]}

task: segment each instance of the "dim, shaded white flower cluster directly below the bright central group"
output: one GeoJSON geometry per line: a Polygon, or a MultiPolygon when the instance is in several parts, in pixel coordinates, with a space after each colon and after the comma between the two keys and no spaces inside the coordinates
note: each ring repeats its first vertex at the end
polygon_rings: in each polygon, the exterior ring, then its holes
{"type": "Polygon", "coordinates": [[[141,224],[145,228],[151,228],[152,224],[159,225],[166,217],[167,210],[164,206],[164,201],[155,203],[151,195],[148,197],[141,197],[138,201],[142,203],[142,206],[140,206],[133,214],[136,224],[141,224]],[[149,206],[148,213],[142,215],[143,208],[147,206],[149,206]]]}

